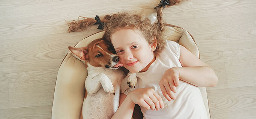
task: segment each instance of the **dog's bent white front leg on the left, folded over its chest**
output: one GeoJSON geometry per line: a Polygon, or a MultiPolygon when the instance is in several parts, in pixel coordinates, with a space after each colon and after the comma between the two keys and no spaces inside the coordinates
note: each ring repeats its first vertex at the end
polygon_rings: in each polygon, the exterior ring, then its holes
{"type": "Polygon", "coordinates": [[[107,77],[106,74],[103,73],[96,75],[90,80],[86,79],[85,86],[89,94],[94,94],[98,92],[101,86],[103,87],[106,93],[115,94],[111,80],[107,77]]]}

